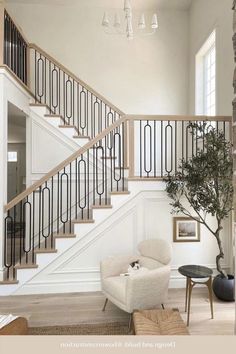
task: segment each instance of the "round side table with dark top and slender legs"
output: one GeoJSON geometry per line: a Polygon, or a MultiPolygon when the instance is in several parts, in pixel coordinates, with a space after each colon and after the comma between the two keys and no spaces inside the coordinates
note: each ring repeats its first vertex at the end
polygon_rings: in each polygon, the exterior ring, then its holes
{"type": "Polygon", "coordinates": [[[199,265],[185,265],[179,267],[179,273],[186,277],[186,294],[185,294],[185,312],[187,312],[187,326],[189,325],[190,318],[190,305],[191,305],[191,294],[194,285],[204,284],[208,288],[210,307],[211,307],[211,318],[213,316],[213,296],[212,296],[212,270],[207,267],[199,265]],[[195,281],[194,279],[208,278],[205,282],[195,281]]]}

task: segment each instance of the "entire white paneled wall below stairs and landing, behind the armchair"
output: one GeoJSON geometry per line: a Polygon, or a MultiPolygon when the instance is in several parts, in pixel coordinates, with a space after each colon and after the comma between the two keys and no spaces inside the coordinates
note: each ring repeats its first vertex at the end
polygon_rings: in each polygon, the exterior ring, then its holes
{"type": "MultiPolygon", "coordinates": [[[[201,227],[200,242],[173,243],[170,212],[169,199],[164,191],[145,190],[143,186],[143,191],[130,196],[93,231],[83,237],[78,232],[78,242],[19,289],[17,294],[100,290],[100,261],[116,254],[134,254],[138,243],[150,238],[166,239],[173,246],[170,287],[185,287],[185,278],[178,273],[178,267],[183,264],[202,264],[215,270],[218,249],[214,237],[201,227]]],[[[229,225],[228,220],[222,234],[225,248],[223,265],[226,268],[230,264],[229,225]]]]}

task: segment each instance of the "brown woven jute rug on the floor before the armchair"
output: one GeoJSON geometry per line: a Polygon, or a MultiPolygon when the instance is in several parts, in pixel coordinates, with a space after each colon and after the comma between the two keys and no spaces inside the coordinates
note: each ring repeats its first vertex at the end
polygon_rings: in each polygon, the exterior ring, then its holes
{"type": "Polygon", "coordinates": [[[128,324],[114,323],[96,323],[96,324],[79,324],[72,326],[50,326],[50,327],[31,327],[28,331],[29,335],[129,335],[128,324]]]}

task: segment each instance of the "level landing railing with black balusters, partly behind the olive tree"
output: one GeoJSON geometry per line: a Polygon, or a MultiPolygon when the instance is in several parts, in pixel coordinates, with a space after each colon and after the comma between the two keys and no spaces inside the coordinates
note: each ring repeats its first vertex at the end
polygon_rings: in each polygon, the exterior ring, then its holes
{"type": "Polygon", "coordinates": [[[162,178],[178,171],[181,159],[204,149],[205,133],[197,136],[191,123],[206,123],[230,140],[231,117],[128,115],[129,177],[162,178]]]}

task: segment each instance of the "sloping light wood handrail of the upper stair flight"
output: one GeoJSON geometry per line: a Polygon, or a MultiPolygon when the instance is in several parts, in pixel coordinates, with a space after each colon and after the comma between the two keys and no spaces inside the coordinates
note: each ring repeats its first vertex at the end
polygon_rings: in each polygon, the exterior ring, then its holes
{"type": "Polygon", "coordinates": [[[119,115],[123,116],[125,113],[122,112],[119,108],[117,108],[114,104],[112,104],[111,102],[109,102],[105,97],[103,97],[102,95],[100,95],[97,91],[95,91],[92,87],[90,87],[89,85],[87,85],[83,80],[81,80],[78,76],[76,76],[75,74],[73,74],[70,70],[68,70],[64,65],[62,65],[61,63],[59,63],[56,59],[54,59],[51,55],[49,55],[48,53],[46,53],[42,48],[40,48],[38,45],[34,44],[34,43],[30,43],[29,44],[29,48],[30,49],[34,49],[36,51],[38,51],[39,53],[41,53],[45,58],[47,58],[48,60],[50,60],[51,62],[53,62],[55,65],[58,66],[59,69],[61,69],[62,71],[64,71],[68,76],[70,76],[72,79],[74,79],[76,82],[78,82],[81,86],[83,86],[86,90],[88,90],[89,92],[91,92],[94,96],[96,96],[97,98],[99,98],[103,103],[105,103],[107,106],[109,106],[110,108],[112,108],[115,112],[117,112],[119,115]]]}

